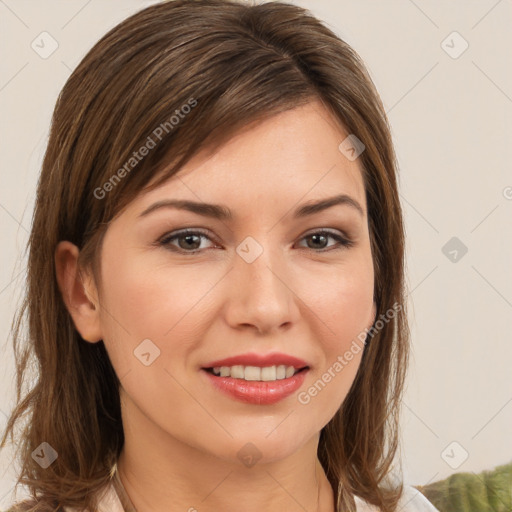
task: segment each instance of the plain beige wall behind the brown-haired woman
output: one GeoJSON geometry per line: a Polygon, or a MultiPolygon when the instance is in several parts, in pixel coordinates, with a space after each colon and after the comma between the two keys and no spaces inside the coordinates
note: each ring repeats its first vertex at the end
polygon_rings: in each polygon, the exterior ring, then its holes
{"type": "MultiPolygon", "coordinates": [[[[22,249],[55,100],[96,41],[152,3],[0,0],[0,425],[13,403],[8,330],[23,292],[22,249]],[[43,31],[58,43],[47,59],[31,48],[43,31]]],[[[406,480],[426,484],[506,463],[512,460],[512,0],[293,3],[325,20],[361,55],[392,125],[413,344],[402,422],[406,480]],[[458,55],[464,41],[469,46],[458,55]],[[467,247],[465,255],[456,246],[445,249],[448,256],[442,252],[452,237],[467,247]]],[[[4,450],[0,508],[11,502],[13,483],[4,450]]]]}

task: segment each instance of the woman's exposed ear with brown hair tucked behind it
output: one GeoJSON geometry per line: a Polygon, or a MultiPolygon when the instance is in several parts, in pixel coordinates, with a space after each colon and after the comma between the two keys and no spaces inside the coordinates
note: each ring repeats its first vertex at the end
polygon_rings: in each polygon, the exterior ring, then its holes
{"type": "Polygon", "coordinates": [[[55,249],[57,283],[76,330],[84,340],[96,343],[103,338],[98,293],[92,276],[80,272],[79,253],[71,242],[58,243],[55,249]]]}

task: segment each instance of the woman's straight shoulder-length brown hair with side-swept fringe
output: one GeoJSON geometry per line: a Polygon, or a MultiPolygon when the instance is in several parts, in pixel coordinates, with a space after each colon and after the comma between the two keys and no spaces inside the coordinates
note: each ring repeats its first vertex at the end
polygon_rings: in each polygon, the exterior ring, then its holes
{"type": "Polygon", "coordinates": [[[238,0],[175,0],[141,10],[90,50],[58,98],[28,244],[27,294],[13,323],[17,405],[2,440],[4,446],[15,424],[27,420],[17,485],[30,490],[33,510],[93,509],[124,440],[118,377],[103,342],[84,342],[74,327],[57,285],[57,243],[77,245],[82,268],[90,266],[99,283],[109,222],[144,187],[158,186],[248,123],[312,99],[366,146],[359,161],[376,319],[394,304],[402,309],[366,345],[348,396],[322,429],[318,456],[337,511],[354,511],[354,495],[395,510],[402,487],[385,477],[398,446],[409,330],[397,163],[385,111],[359,56],[308,11],[238,0]],[[162,126],[165,137],[134,164],[134,151],[162,126]],[[31,361],[37,379],[25,389],[31,361]],[[43,441],[58,453],[47,469],[31,457],[43,441]]]}

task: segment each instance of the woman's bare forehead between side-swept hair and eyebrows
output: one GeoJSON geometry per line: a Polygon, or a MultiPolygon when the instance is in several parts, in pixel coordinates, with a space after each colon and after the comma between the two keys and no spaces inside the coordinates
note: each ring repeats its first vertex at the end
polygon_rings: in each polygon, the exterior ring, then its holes
{"type": "Polygon", "coordinates": [[[177,198],[222,202],[246,213],[340,193],[365,209],[360,160],[339,149],[348,135],[320,102],[310,102],[248,125],[213,151],[198,152],[177,174],[139,195],[130,210],[177,198]]]}

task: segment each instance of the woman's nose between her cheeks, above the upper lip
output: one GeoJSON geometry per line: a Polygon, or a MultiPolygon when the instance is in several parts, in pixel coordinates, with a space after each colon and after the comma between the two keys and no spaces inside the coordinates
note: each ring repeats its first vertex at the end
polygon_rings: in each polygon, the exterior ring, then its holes
{"type": "Polygon", "coordinates": [[[267,246],[254,261],[237,254],[228,274],[228,323],[260,334],[290,328],[300,314],[290,275],[285,255],[267,246]]]}

